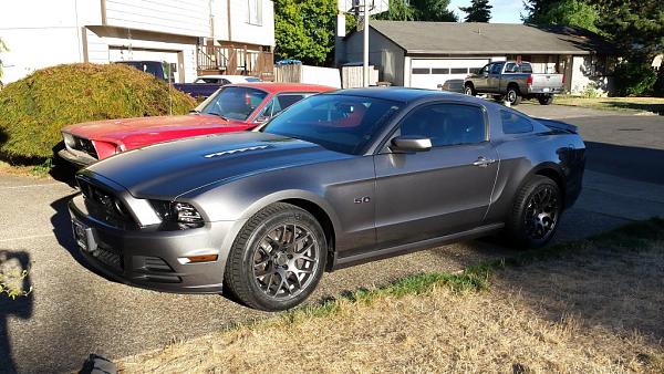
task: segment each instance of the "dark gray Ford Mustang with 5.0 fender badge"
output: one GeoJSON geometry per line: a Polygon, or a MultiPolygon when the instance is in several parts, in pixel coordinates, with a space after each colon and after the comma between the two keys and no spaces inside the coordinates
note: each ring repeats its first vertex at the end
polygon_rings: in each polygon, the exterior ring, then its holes
{"type": "Polygon", "coordinates": [[[75,240],[137,287],[302,302],[324,270],[487,236],[544,245],[581,190],[574,126],[412,89],[307,98],[260,131],[162,143],[76,177],[75,240]]]}

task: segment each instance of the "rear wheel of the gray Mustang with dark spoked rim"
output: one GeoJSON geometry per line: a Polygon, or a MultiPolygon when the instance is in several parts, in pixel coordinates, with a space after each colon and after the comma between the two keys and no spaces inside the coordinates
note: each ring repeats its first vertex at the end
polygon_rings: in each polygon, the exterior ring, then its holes
{"type": "Polygon", "coordinates": [[[556,181],[535,176],[517,193],[507,233],[518,248],[542,247],[558,229],[561,212],[562,196],[556,181]]]}

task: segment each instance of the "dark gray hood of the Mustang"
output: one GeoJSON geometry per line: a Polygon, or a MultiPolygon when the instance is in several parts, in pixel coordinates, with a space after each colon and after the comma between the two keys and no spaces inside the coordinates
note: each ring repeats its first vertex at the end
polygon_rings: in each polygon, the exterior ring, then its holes
{"type": "Polygon", "coordinates": [[[216,181],[345,157],[350,156],[317,144],[246,132],[155,144],[106,158],[85,170],[124,186],[138,198],[175,198],[216,181]]]}

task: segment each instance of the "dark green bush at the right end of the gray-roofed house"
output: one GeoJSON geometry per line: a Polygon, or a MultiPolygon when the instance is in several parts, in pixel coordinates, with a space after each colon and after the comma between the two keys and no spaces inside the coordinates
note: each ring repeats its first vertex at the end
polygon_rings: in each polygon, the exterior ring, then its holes
{"type": "Polygon", "coordinates": [[[622,62],[615,66],[618,96],[640,96],[652,93],[657,72],[647,62],[622,62]]]}

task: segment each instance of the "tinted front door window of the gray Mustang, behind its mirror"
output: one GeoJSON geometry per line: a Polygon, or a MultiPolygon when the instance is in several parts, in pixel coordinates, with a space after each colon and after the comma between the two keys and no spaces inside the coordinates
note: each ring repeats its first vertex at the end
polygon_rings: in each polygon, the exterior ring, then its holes
{"type": "Polygon", "coordinates": [[[416,108],[402,122],[401,135],[424,136],[434,147],[486,141],[484,112],[471,105],[433,104],[416,108]]]}

